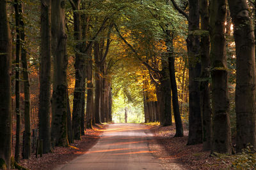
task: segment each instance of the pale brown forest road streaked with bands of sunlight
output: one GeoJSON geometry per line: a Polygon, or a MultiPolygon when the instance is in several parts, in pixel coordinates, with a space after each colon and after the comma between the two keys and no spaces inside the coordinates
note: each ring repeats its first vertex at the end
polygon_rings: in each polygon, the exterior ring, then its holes
{"type": "Polygon", "coordinates": [[[88,152],[56,170],[159,170],[161,163],[148,149],[153,134],[146,125],[110,124],[88,152]]]}

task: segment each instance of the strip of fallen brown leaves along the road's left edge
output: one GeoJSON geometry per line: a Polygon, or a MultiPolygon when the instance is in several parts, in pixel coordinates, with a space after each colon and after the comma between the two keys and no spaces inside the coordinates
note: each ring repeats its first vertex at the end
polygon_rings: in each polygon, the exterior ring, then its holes
{"type": "Polygon", "coordinates": [[[103,132],[102,130],[106,129],[107,126],[108,125],[97,125],[94,126],[93,129],[87,129],[85,136],[82,136],[82,140],[75,140],[75,142],[68,147],[55,147],[52,153],[44,154],[42,157],[38,155],[38,158],[36,158],[35,154],[33,154],[29,160],[20,160],[20,166],[36,170],[54,169],[54,167],[65,164],[92,148],[100,138],[100,134],[103,132]]]}

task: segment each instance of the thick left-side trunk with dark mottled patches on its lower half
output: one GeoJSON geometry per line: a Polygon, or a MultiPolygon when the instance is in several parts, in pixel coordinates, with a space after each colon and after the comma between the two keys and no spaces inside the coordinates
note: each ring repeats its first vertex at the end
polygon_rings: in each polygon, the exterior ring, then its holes
{"type": "MultiPolygon", "coordinates": [[[[67,34],[65,1],[52,1],[52,56],[54,75],[52,91],[51,138],[57,146],[67,146],[67,34]]],[[[79,122],[80,123],[80,122],[79,122]]],[[[79,126],[80,124],[77,124],[79,126]]]]}

